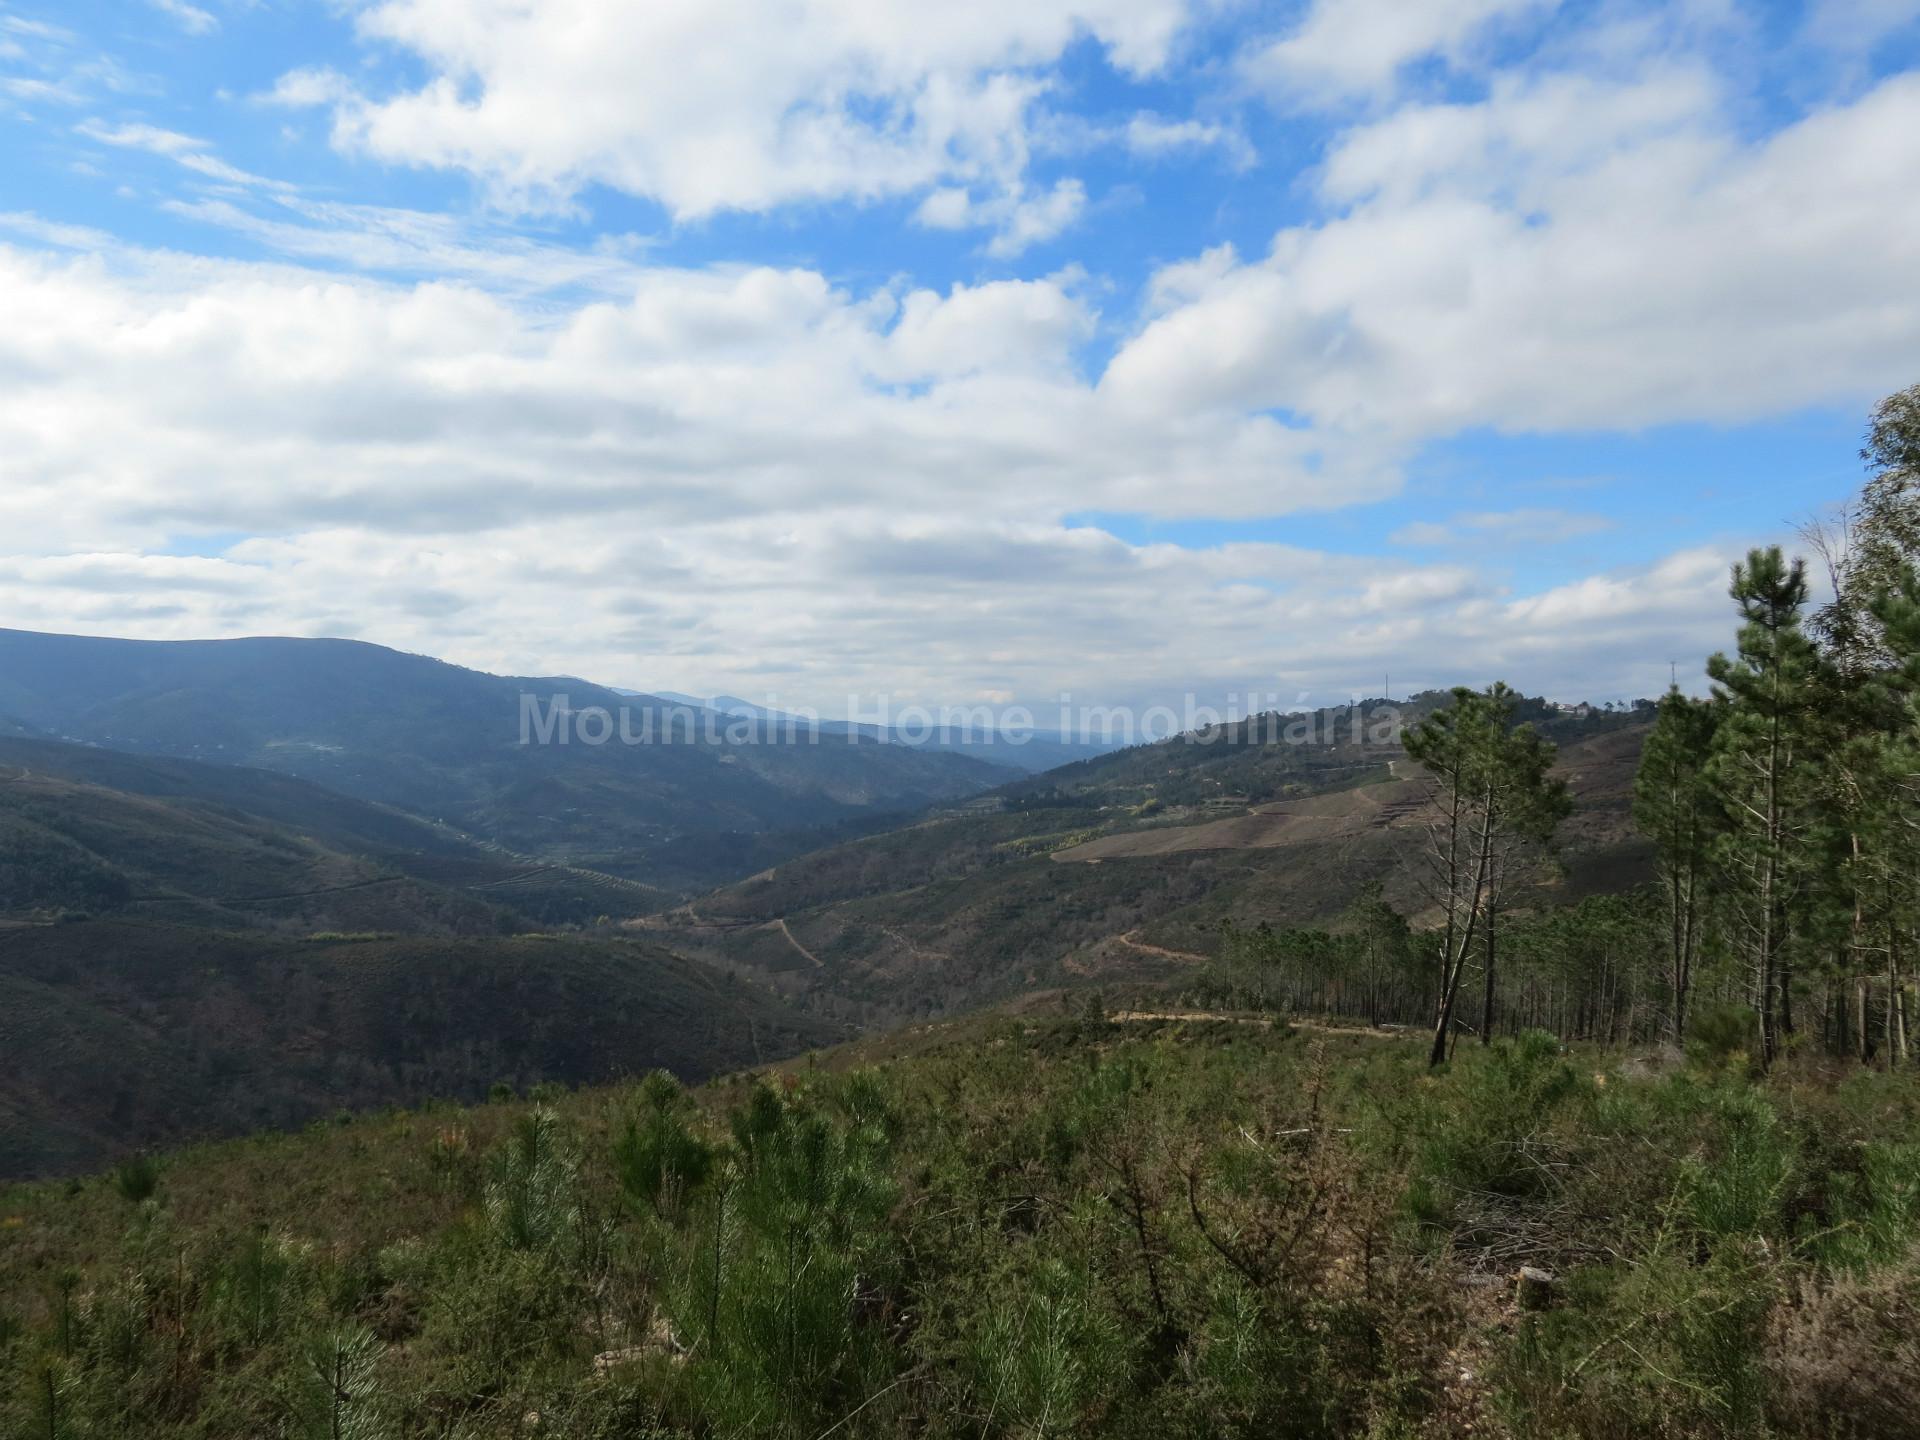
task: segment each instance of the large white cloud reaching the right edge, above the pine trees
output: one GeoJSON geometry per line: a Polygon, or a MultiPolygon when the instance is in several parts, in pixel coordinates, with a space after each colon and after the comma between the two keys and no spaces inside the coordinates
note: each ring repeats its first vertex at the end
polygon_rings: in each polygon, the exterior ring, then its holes
{"type": "Polygon", "coordinates": [[[1860,403],[1920,353],[1920,75],[1757,142],[1653,71],[1501,84],[1331,154],[1336,213],[1154,286],[1102,390],[1413,442],[1860,403]]]}

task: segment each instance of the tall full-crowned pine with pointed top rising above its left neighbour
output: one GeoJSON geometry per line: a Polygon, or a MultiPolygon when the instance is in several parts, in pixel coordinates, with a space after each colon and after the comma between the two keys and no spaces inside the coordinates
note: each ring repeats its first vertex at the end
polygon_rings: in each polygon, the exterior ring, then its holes
{"type": "Polygon", "coordinates": [[[1793,1033],[1791,925],[1807,841],[1795,764],[1805,758],[1818,657],[1801,630],[1803,561],[1788,563],[1778,545],[1755,549],[1734,566],[1728,593],[1743,624],[1738,653],[1707,662],[1726,707],[1711,776],[1728,816],[1718,852],[1761,1018],[1761,1062],[1772,1064],[1782,1037],[1793,1033]]]}

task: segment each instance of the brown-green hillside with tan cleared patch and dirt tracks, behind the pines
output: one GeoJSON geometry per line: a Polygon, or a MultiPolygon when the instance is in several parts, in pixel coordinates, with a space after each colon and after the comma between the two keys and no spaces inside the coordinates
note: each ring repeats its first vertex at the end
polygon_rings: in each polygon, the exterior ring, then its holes
{"type": "MultiPolygon", "coordinates": [[[[1644,720],[1542,724],[1563,743],[1576,810],[1538,899],[1640,883],[1628,804],[1644,720]]],[[[829,1014],[883,1021],[1064,979],[1169,973],[1212,954],[1223,922],[1321,924],[1373,885],[1419,914],[1421,785],[1396,778],[1398,747],[1354,743],[1346,724],[1317,733],[1334,739],[1121,751],[634,925],[829,1014]]]]}

